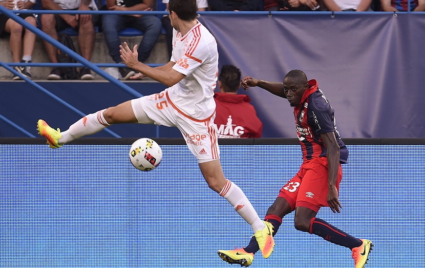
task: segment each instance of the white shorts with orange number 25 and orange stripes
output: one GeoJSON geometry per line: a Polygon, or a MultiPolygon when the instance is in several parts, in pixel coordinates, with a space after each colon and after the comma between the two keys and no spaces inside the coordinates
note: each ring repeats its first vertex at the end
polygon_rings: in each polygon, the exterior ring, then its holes
{"type": "Polygon", "coordinates": [[[170,101],[167,90],[133,99],[131,106],[139,122],[146,113],[155,125],[177,127],[199,163],[220,158],[215,113],[202,120],[185,115],[170,101]]]}

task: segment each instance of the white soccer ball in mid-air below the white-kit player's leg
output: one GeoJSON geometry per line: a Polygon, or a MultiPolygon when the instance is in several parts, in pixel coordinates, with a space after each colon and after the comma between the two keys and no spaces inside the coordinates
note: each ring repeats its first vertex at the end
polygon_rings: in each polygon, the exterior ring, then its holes
{"type": "Polygon", "coordinates": [[[153,139],[140,138],[131,144],[130,161],[141,171],[150,171],[156,168],[162,159],[162,150],[153,139]]]}

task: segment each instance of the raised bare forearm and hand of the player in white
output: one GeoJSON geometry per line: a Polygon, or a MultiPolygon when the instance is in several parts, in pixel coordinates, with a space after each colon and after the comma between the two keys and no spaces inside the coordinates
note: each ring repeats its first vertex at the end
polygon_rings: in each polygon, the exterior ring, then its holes
{"type": "Polygon", "coordinates": [[[137,53],[137,45],[134,45],[133,51],[131,51],[127,42],[124,42],[124,46],[120,45],[120,53],[121,59],[129,68],[139,71],[144,76],[150,77],[168,87],[178,83],[181,79],[186,77],[172,68],[172,66],[174,66],[174,62],[172,61],[155,68],[140,62],[137,59],[139,55],[137,53]]]}

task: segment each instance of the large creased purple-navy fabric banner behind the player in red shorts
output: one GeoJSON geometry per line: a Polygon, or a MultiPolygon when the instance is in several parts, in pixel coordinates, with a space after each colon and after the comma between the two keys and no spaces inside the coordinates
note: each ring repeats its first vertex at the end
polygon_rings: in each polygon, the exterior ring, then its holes
{"type": "MultiPolygon", "coordinates": [[[[425,137],[424,14],[354,13],[199,20],[217,40],[220,66],[234,64],[242,76],[269,81],[283,81],[293,69],[317,79],[342,137],[425,137]]],[[[260,88],[247,94],[264,123],[263,137],[296,137],[286,99],[260,88]]]]}

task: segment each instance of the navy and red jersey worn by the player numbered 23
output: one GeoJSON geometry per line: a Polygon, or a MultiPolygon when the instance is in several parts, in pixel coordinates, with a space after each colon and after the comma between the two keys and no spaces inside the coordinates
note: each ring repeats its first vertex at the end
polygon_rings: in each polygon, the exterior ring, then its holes
{"type": "Polygon", "coordinates": [[[308,81],[307,89],[300,103],[294,107],[298,140],[303,160],[326,156],[327,150],[320,137],[321,133],[335,133],[340,145],[340,162],[347,163],[348,150],[341,139],[335,122],[335,111],[319,89],[316,79],[308,81]]]}

